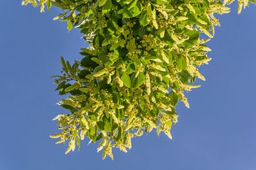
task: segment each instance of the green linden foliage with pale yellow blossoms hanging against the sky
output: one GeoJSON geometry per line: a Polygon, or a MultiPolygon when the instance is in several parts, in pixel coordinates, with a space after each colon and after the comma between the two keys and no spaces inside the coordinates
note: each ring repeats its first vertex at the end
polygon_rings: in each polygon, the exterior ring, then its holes
{"type": "MultiPolygon", "coordinates": [[[[254,3],[253,0],[250,0],[254,3]]],[[[23,4],[51,4],[63,9],[55,19],[67,21],[68,30],[81,29],[90,43],[83,59],[70,64],[61,57],[63,74],[56,90],[70,94],[60,101],[71,114],[60,114],[56,143],[68,141],[66,153],[80,148],[85,136],[100,141],[103,159],[113,159],[113,147],[127,152],[131,138],[156,129],[170,139],[177,122],[175,106],[205,80],[198,67],[211,51],[205,43],[220,25],[216,13],[228,13],[218,0],[24,0],[23,4]],[[209,38],[202,39],[205,34],[209,38]]],[[[238,1],[238,13],[248,0],[238,1]]],[[[204,36],[205,37],[205,36],[204,36]]]]}

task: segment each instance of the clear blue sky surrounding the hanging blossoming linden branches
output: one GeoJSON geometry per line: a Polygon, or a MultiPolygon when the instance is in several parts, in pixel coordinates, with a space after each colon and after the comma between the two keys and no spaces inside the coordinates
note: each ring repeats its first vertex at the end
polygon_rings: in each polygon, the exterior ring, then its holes
{"type": "Polygon", "coordinates": [[[114,150],[115,160],[101,160],[96,145],[65,155],[49,134],[58,132],[50,76],[60,73],[60,56],[81,59],[81,34],[53,21],[60,11],[40,14],[19,0],[0,6],[0,170],[67,169],[256,169],[256,6],[241,15],[220,17],[221,27],[209,43],[212,61],[202,67],[207,81],[188,94],[191,108],[179,104],[173,140],[150,133],[132,141],[128,153],[114,150]]]}

